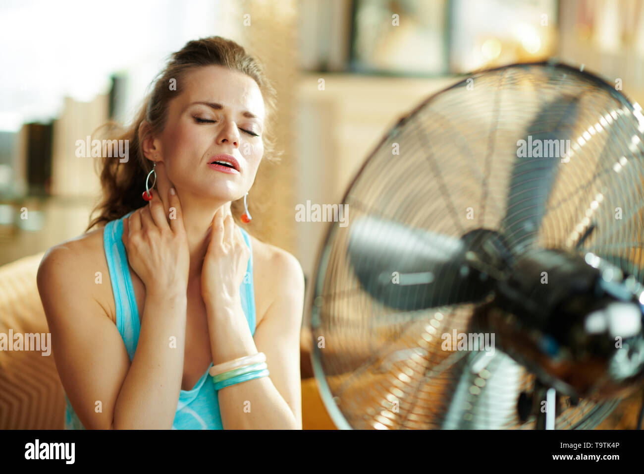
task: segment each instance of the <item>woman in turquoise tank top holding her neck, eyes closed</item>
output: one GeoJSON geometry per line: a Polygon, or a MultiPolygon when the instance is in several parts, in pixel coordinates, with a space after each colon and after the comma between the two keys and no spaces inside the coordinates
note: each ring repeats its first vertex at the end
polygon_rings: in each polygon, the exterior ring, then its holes
{"type": "Polygon", "coordinates": [[[66,428],[301,429],[301,266],[233,218],[273,109],[261,65],[209,37],[117,136],[99,217],[38,270],[66,428]]]}

